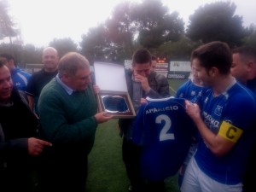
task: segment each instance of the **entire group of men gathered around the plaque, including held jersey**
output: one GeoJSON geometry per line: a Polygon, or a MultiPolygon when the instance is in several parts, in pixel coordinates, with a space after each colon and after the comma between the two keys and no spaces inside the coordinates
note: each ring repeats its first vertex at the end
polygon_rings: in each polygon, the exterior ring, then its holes
{"type": "MultiPolygon", "coordinates": [[[[118,121],[127,190],[165,192],[166,177],[179,169],[182,192],[252,191],[255,49],[202,44],[190,56],[192,79],[176,96],[166,77],[154,71],[154,58],[148,49],[137,49],[131,68],[124,69],[136,112],[118,121]],[[150,107],[155,113],[147,119],[150,107]],[[180,144],[184,138],[186,148],[180,144]]],[[[0,188],[83,192],[96,127],[113,114],[98,111],[100,87],[93,84],[84,55],[69,52],[59,58],[55,48],[47,47],[42,62],[40,71],[29,74],[12,55],[0,55],[0,188]]]]}

